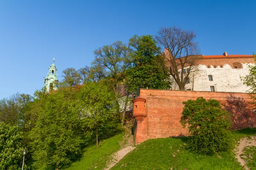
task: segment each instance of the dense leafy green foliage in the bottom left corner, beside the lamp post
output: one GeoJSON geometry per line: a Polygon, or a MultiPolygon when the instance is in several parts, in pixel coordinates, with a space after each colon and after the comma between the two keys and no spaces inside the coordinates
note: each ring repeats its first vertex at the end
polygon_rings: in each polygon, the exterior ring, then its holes
{"type": "Polygon", "coordinates": [[[22,137],[17,126],[0,123],[0,169],[18,170],[22,166],[22,137]]]}

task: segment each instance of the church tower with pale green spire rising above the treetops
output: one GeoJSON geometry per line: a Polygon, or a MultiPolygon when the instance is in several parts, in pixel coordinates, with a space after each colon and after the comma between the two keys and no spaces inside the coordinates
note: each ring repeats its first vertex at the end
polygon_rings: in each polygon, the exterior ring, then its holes
{"type": "Polygon", "coordinates": [[[58,74],[56,74],[57,68],[54,64],[55,58],[53,58],[53,63],[49,67],[49,71],[47,73],[46,78],[44,79],[44,89],[46,89],[47,93],[51,90],[57,90],[57,86],[55,85],[55,81],[58,81],[58,74]]]}

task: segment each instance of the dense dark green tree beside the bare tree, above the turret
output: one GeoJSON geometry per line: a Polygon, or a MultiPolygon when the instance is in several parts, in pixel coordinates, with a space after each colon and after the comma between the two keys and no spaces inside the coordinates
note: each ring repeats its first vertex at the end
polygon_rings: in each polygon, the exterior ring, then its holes
{"type": "Polygon", "coordinates": [[[140,88],[168,89],[170,79],[160,47],[151,35],[134,35],[129,40],[132,49],[133,67],[126,71],[125,81],[128,91],[140,88]]]}

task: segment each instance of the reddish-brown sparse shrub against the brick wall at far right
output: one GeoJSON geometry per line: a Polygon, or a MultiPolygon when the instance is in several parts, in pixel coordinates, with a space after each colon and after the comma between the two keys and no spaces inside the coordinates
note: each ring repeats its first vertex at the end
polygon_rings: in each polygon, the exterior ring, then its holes
{"type": "Polygon", "coordinates": [[[240,130],[256,124],[256,114],[247,107],[244,98],[230,94],[226,101],[224,109],[232,115],[232,129],[240,130]]]}

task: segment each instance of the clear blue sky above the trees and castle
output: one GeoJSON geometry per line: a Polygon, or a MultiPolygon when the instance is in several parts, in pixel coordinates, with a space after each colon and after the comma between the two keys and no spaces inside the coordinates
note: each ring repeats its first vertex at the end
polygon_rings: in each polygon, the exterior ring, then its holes
{"type": "Polygon", "coordinates": [[[256,52],[255,0],[1,0],[0,99],[41,89],[52,58],[61,78],[96,48],[164,26],[195,31],[204,55],[256,52]]]}

